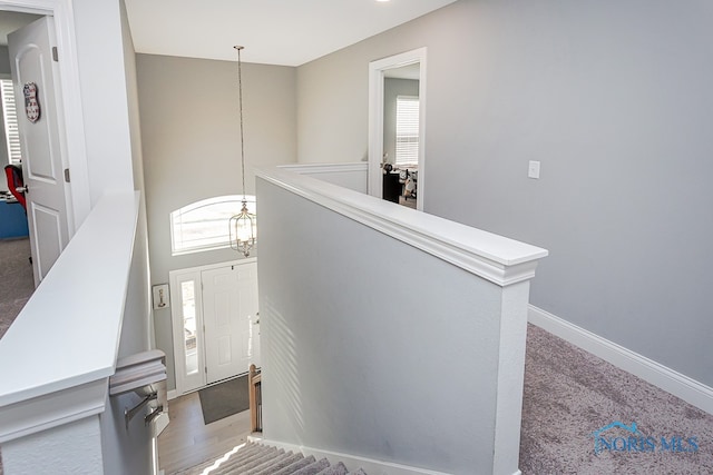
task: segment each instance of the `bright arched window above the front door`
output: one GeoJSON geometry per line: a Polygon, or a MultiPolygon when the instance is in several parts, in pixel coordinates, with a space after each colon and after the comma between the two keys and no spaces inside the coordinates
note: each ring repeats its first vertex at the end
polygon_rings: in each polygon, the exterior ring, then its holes
{"type": "MultiPolygon", "coordinates": [[[[246,195],[247,209],[256,214],[255,197],[246,195]]],[[[218,196],[192,202],[170,214],[173,256],[231,246],[228,221],[241,212],[243,195],[218,196]]]]}

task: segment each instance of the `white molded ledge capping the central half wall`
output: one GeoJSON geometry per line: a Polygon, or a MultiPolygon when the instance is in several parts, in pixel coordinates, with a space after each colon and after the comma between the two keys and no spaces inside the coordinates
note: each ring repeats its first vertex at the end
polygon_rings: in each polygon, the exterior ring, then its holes
{"type": "Polygon", "coordinates": [[[256,176],[407,243],[499,286],[535,276],[547,250],[352,191],[286,169],[256,176]]]}

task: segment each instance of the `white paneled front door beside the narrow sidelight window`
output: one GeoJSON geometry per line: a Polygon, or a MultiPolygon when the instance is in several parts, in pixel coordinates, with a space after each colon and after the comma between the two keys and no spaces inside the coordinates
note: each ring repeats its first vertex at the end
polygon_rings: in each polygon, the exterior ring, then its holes
{"type": "Polygon", "coordinates": [[[206,383],[248,370],[257,315],[257,264],[246,263],[204,270],[206,383]]]}

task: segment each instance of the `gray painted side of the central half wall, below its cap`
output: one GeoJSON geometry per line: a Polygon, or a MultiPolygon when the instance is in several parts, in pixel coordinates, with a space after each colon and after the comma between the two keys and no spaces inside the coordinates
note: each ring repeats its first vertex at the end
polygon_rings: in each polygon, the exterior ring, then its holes
{"type": "Polygon", "coordinates": [[[517,444],[494,468],[506,452],[494,443],[500,311],[519,308],[524,359],[529,283],[504,289],[257,185],[264,437],[442,473],[515,473],[517,444]]]}

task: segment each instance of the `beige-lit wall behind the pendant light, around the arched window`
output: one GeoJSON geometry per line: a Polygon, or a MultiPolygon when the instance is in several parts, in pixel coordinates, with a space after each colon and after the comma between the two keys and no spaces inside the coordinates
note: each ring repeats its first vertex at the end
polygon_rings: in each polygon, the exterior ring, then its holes
{"type": "MultiPolygon", "coordinates": [[[[152,284],[168,271],[234,260],[229,249],[170,255],[169,214],[241,192],[237,63],[137,55],[152,284]]],[[[295,69],[243,63],[246,192],[254,166],[296,161],[295,69]]],[[[226,222],[227,226],[227,222],[226,222]]],[[[156,345],[175,388],[170,310],[154,311],[156,345]]]]}

